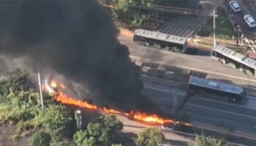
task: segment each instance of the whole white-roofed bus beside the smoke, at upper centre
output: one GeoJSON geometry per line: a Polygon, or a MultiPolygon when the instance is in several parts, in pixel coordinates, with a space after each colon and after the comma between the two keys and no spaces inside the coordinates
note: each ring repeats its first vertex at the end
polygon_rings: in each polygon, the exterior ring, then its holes
{"type": "Polygon", "coordinates": [[[187,50],[187,37],[178,37],[144,29],[135,30],[133,42],[138,45],[157,47],[177,53],[184,53],[187,50]]]}

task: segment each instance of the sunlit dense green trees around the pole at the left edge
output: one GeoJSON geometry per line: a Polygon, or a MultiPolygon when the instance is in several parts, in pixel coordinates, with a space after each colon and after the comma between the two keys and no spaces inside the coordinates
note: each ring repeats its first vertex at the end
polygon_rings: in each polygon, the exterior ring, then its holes
{"type": "Polygon", "coordinates": [[[13,69],[0,80],[1,123],[15,124],[17,134],[35,133],[32,136],[34,145],[41,139],[38,137],[46,140],[49,134],[53,139],[64,137],[71,128],[71,112],[51,96],[45,95],[44,99],[46,108],[42,110],[37,84],[29,80],[27,72],[13,69]]]}

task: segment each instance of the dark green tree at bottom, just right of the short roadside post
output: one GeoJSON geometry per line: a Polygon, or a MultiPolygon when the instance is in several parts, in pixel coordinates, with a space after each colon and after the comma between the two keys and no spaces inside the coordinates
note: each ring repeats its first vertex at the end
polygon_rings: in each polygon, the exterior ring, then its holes
{"type": "Polygon", "coordinates": [[[115,115],[101,115],[87,125],[85,131],[75,133],[73,140],[77,146],[112,145],[123,124],[115,115]]]}

